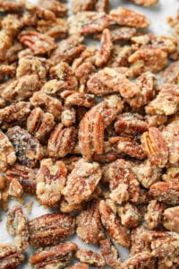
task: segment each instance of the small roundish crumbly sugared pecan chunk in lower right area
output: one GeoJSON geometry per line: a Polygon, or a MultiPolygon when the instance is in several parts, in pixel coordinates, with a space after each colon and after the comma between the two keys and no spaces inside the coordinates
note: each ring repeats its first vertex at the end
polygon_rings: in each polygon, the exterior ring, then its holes
{"type": "Polygon", "coordinates": [[[117,209],[121,223],[127,228],[135,228],[141,223],[141,213],[133,204],[126,203],[117,209]]]}

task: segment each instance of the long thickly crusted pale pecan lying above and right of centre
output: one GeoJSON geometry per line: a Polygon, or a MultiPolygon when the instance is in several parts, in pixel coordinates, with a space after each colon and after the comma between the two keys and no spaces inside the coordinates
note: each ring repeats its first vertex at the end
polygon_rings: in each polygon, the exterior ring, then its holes
{"type": "Polygon", "coordinates": [[[118,74],[113,68],[104,68],[92,74],[87,82],[88,91],[96,95],[119,92],[124,98],[131,98],[139,92],[134,83],[124,74],[118,74]]]}

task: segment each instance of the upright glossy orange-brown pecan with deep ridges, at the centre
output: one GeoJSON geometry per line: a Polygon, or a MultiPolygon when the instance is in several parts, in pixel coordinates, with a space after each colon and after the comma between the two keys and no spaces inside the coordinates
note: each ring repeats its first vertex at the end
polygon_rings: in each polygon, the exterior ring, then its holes
{"type": "Polygon", "coordinates": [[[104,146],[104,120],[100,112],[92,108],[81,119],[79,146],[82,156],[90,160],[93,153],[102,153],[104,146]]]}

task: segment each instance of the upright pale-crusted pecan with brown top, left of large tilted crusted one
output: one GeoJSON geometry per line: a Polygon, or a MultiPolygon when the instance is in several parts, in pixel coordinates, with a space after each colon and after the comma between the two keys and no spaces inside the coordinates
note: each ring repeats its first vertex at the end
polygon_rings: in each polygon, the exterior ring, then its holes
{"type": "Polygon", "coordinates": [[[52,159],[40,161],[36,194],[41,204],[52,206],[60,200],[61,190],[66,182],[66,174],[64,161],[53,162],[52,159]]]}

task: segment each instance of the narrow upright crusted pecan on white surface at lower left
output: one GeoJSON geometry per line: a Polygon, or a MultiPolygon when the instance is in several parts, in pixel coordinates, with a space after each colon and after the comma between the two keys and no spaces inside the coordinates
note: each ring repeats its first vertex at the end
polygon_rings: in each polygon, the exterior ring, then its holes
{"type": "Polygon", "coordinates": [[[25,250],[29,246],[28,219],[23,214],[20,205],[14,205],[9,211],[6,227],[15,238],[15,246],[21,251],[25,250]]]}

